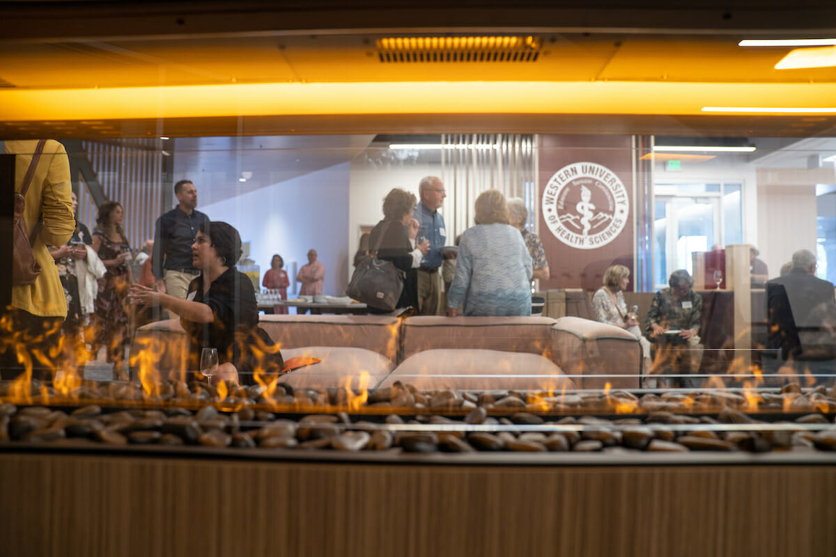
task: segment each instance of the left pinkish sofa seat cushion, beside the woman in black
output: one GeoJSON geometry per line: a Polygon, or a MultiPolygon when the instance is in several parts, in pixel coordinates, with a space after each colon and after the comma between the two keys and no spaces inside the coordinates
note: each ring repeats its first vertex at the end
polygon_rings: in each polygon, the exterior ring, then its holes
{"type": "Polygon", "coordinates": [[[292,357],[319,357],[322,362],[299,367],[285,373],[279,382],[292,387],[353,389],[375,387],[395,367],[392,361],[380,354],[354,347],[303,347],[282,351],[285,360],[292,357]]]}

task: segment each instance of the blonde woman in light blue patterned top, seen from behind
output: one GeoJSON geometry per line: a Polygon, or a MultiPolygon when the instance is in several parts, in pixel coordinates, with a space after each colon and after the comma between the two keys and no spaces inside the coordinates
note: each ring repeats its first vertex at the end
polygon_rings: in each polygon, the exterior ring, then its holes
{"type": "Polygon", "coordinates": [[[508,224],[499,190],[476,200],[476,225],[461,235],[456,275],[447,294],[447,316],[530,316],[532,262],[523,236],[508,224]]]}

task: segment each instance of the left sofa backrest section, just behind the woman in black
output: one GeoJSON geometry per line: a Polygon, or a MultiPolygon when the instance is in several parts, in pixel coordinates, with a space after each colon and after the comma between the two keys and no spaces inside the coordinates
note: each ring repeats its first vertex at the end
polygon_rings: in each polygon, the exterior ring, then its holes
{"type": "Polygon", "coordinates": [[[282,349],[365,348],[395,362],[399,321],[394,316],[263,315],[258,324],[282,349]]]}

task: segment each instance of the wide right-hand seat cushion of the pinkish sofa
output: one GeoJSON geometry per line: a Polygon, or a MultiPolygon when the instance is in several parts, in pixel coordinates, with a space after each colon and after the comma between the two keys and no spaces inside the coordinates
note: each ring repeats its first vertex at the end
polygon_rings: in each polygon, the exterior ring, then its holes
{"type": "Polygon", "coordinates": [[[380,383],[411,383],[419,389],[573,389],[551,360],[528,352],[482,349],[427,350],[409,357],[380,383]]]}

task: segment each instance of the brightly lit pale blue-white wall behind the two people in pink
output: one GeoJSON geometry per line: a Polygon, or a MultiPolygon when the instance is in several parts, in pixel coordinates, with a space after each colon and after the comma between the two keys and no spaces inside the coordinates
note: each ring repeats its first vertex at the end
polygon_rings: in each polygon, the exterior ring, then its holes
{"type": "MultiPolygon", "coordinates": [[[[343,163],[198,209],[238,229],[242,241],[250,242],[250,259],[261,266],[262,277],[273,254],[282,256],[291,275],[293,262],[303,266],[314,248],[325,266],[324,294],[343,296],[348,284],[348,205],[349,163],[343,163]]],[[[288,293],[298,291],[294,278],[288,293]]]]}

